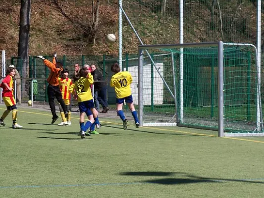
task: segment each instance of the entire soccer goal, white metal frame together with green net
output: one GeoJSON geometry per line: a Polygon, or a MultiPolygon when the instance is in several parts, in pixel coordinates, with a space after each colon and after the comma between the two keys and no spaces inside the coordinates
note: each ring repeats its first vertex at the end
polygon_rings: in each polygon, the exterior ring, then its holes
{"type": "Polygon", "coordinates": [[[190,126],[261,136],[260,67],[250,44],[139,46],[132,87],[143,126],[190,126]]]}

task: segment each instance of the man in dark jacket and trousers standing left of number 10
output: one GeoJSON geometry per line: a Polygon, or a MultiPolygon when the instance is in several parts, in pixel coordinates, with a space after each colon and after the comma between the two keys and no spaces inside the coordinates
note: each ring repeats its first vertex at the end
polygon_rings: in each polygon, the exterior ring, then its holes
{"type": "Polygon", "coordinates": [[[91,64],[92,75],[94,76],[94,99],[95,105],[98,110],[100,109],[99,103],[102,105],[103,110],[101,113],[106,113],[109,108],[107,104],[107,87],[104,82],[96,82],[104,80],[103,75],[99,71],[99,69],[95,66],[95,64],[91,64]]]}

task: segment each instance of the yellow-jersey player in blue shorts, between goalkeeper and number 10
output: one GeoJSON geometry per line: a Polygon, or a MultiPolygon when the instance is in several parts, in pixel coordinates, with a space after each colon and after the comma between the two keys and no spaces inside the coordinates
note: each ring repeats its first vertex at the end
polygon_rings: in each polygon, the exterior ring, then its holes
{"type": "Polygon", "coordinates": [[[91,75],[91,71],[82,68],[79,71],[80,79],[75,81],[74,84],[70,86],[70,92],[76,91],[78,97],[78,106],[80,109],[80,128],[81,128],[81,138],[85,138],[85,132],[91,127],[95,122],[97,128],[100,128],[100,122],[97,115],[97,110],[94,108],[94,101],[91,92],[91,85],[94,83],[94,78],[91,75]],[[89,110],[92,112],[93,116],[88,117],[88,121],[84,124],[85,113],[88,115],[89,110]]]}

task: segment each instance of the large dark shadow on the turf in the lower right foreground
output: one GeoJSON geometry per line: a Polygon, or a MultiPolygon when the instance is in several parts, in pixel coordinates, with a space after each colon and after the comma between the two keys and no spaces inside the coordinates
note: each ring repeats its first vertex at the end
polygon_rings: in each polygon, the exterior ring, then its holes
{"type": "Polygon", "coordinates": [[[145,180],[143,182],[152,184],[163,184],[163,185],[176,185],[176,184],[192,184],[192,183],[212,183],[212,182],[246,182],[255,184],[264,184],[260,180],[264,179],[223,179],[223,178],[210,178],[210,177],[200,177],[196,175],[190,175],[181,172],[122,172],[120,175],[130,175],[130,176],[169,176],[169,178],[145,180]],[[171,178],[175,174],[181,174],[182,177],[187,178],[171,178]]]}

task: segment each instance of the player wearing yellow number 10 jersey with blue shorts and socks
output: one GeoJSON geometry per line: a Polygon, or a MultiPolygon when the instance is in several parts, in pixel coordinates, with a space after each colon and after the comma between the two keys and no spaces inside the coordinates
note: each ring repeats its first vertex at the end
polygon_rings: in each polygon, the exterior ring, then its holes
{"type": "Polygon", "coordinates": [[[122,110],[124,100],[129,106],[129,109],[134,117],[136,128],[139,128],[139,121],[137,111],[133,104],[133,98],[131,95],[130,84],[132,83],[132,76],[128,71],[120,71],[120,67],[117,63],[111,66],[111,71],[114,72],[110,80],[110,86],[114,88],[116,94],[116,110],[117,114],[123,121],[123,129],[127,128],[127,119],[122,110]]]}

